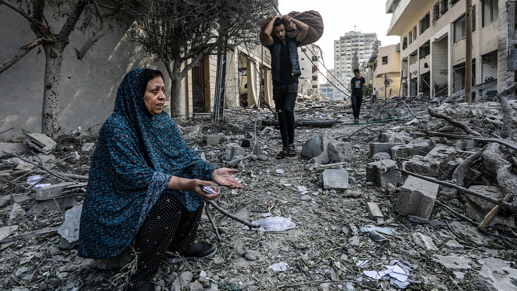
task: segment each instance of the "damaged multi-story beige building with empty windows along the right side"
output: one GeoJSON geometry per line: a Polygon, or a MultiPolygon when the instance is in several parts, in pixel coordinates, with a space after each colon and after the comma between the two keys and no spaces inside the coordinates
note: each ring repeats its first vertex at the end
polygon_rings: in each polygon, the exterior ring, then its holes
{"type": "MultiPolygon", "coordinates": [[[[472,1],[473,94],[495,96],[515,83],[515,2],[472,1]]],[[[465,0],[388,0],[388,36],[401,39],[401,77],[410,95],[464,95],[465,0]],[[463,91],[462,91],[463,90],[463,91]]]]}

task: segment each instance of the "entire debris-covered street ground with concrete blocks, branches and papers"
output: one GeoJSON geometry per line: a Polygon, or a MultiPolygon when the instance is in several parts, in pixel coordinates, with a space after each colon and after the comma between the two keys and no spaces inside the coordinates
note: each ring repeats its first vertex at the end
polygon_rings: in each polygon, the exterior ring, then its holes
{"type": "MultiPolygon", "coordinates": [[[[517,103],[510,105],[517,109],[517,103]]],[[[281,160],[275,158],[279,131],[262,125],[273,118],[268,109],[258,114],[258,155],[250,155],[254,109],[227,110],[220,124],[181,122],[184,138],[201,158],[239,169],[234,176],[246,189],[223,188],[215,202],[262,230],[250,231],[210,207],[218,234],[203,215],[197,240],[215,243],[216,255],[163,263],[155,290],[515,289],[515,212],[512,200],[504,200],[517,182],[515,120],[505,119],[496,102],[440,105],[393,98],[366,107],[360,123],[350,124],[348,102],[300,95],[297,121],[331,127],[297,126],[298,155],[281,160]],[[428,108],[468,128],[431,117],[428,108]],[[505,124],[509,138],[498,143],[502,139],[492,133],[505,124]],[[496,203],[395,168],[454,183],[496,203]],[[503,211],[479,231],[477,224],[496,204],[503,211]]],[[[0,143],[2,151],[20,152],[4,153],[0,165],[0,289],[116,289],[134,268],[125,258],[77,256],[98,129],[78,128],[55,144],[31,135],[0,143]],[[41,232],[30,236],[34,231],[41,232]]]]}

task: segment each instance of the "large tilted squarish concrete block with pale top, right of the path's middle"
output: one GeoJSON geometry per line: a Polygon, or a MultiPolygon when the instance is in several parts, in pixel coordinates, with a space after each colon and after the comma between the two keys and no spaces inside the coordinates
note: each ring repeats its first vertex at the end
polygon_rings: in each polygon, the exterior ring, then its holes
{"type": "Polygon", "coordinates": [[[402,216],[419,216],[429,219],[433,211],[438,184],[408,176],[400,187],[394,210],[402,216]]]}

